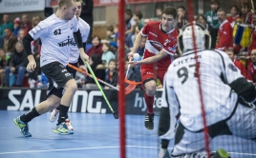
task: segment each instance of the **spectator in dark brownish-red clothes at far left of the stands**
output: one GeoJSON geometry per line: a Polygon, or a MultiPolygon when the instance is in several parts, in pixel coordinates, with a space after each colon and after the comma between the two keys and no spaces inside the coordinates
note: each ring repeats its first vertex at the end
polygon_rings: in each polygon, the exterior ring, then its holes
{"type": "Polygon", "coordinates": [[[4,38],[4,49],[8,55],[11,55],[15,50],[15,44],[17,38],[12,35],[11,29],[5,29],[5,38],[4,38]]]}

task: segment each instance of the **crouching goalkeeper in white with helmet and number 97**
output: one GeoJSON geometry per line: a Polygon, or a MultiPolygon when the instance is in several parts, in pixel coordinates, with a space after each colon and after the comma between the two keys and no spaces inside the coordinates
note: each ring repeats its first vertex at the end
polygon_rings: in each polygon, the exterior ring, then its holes
{"type": "MultiPolygon", "coordinates": [[[[224,51],[208,49],[207,31],[200,24],[193,24],[197,56],[193,50],[192,25],[187,25],[178,37],[183,53],[164,76],[159,134],[161,139],[174,138],[172,157],[207,157],[199,75],[209,141],[224,134],[256,138],[253,83],[247,82],[224,51]]],[[[160,150],[166,152],[166,148],[160,150]]],[[[221,157],[228,154],[219,149],[216,153],[221,157]]]]}

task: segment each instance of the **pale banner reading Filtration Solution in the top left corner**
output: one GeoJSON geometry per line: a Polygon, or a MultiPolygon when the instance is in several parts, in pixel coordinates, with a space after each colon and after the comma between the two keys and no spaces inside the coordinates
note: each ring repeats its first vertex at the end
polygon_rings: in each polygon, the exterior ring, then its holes
{"type": "Polygon", "coordinates": [[[0,0],[0,13],[44,10],[45,0],[0,0]]]}

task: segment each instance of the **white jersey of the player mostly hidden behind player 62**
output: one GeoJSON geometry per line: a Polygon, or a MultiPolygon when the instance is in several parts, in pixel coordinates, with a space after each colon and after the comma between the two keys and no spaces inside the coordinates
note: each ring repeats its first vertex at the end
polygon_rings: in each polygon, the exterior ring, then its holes
{"type": "MultiPolygon", "coordinates": [[[[82,41],[83,43],[85,43],[90,33],[90,26],[83,19],[78,17],[78,28],[82,36],[82,41]]],[[[79,57],[79,50],[76,44],[71,46],[70,53],[70,63],[77,63],[79,57]]]]}

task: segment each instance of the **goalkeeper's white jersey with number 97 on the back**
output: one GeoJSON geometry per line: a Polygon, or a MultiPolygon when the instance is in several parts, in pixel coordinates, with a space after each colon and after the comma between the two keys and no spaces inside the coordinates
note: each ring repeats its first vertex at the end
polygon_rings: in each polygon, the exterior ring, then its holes
{"type": "MultiPolygon", "coordinates": [[[[237,103],[237,94],[231,92],[228,85],[243,76],[224,51],[199,50],[197,54],[206,125],[210,126],[231,115],[237,103]]],[[[203,129],[201,97],[195,69],[195,53],[187,51],[174,60],[165,73],[162,107],[170,109],[172,131],[175,128],[175,116],[179,112],[181,124],[185,128],[191,131],[203,129]]]]}

